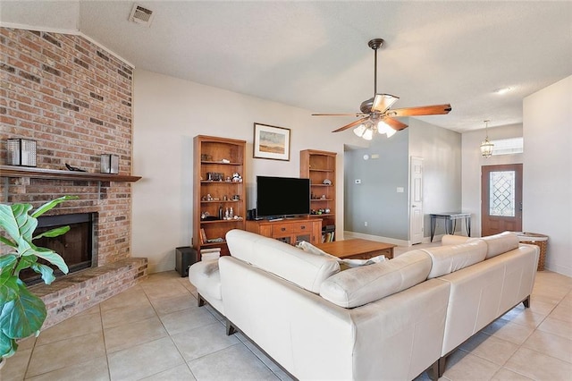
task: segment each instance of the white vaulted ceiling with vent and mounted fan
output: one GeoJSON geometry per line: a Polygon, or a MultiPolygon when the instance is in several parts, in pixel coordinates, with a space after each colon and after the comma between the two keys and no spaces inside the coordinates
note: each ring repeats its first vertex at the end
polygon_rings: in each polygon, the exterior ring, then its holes
{"type": "MultiPolygon", "coordinates": [[[[353,113],[374,93],[454,131],[522,123],[522,100],[572,74],[572,2],[2,1],[3,26],[80,31],[136,68],[312,112],[353,113]],[[509,89],[503,92],[503,89],[509,89]]],[[[224,105],[221,105],[224,112],[224,105]]],[[[332,127],[341,121],[332,118],[332,127]]]]}

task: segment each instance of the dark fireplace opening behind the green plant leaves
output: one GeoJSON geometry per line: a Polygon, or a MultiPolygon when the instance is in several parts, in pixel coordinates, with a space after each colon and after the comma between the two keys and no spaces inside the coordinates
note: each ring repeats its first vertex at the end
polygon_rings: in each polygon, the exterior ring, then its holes
{"type": "MultiPolygon", "coordinates": [[[[70,274],[84,268],[97,266],[97,254],[94,249],[94,222],[95,213],[77,213],[61,216],[39,216],[38,228],[34,235],[39,235],[59,226],[70,226],[70,231],[58,237],[42,237],[34,240],[38,247],[54,250],[62,256],[70,269],[70,274]]],[[[54,275],[63,275],[55,266],[48,264],[44,259],[38,258],[38,262],[54,269],[54,275]]],[[[37,284],[42,281],[41,275],[31,269],[20,273],[21,279],[26,284],[37,284]]]]}

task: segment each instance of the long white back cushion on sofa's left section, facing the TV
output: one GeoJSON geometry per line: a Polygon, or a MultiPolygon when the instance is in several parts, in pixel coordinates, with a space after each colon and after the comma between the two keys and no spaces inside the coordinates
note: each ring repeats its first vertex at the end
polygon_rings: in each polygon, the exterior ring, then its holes
{"type": "Polygon", "coordinates": [[[310,292],[320,292],[325,279],[340,272],[335,258],[312,254],[256,233],[234,229],[226,233],[231,256],[278,275],[310,292]]]}

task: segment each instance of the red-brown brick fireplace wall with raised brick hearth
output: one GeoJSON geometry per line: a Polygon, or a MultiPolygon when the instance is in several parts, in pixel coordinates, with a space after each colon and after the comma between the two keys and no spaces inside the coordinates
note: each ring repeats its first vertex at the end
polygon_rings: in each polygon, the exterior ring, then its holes
{"type": "Polygon", "coordinates": [[[48,305],[46,328],[147,275],[147,259],[130,253],[133,68],[79,35],[0,28],[0,44],[2,202],[38,207],[77,195],[48,214],[97,216],[97,267],[32,286],[48,305]],[[8,174],[10,138],[37,141],[38,172],[8,174]],[[101,154],[119,156],[120,176],[98,176],[101,154]],[[51,175],[66,164],[86,173],[51,175]]]}

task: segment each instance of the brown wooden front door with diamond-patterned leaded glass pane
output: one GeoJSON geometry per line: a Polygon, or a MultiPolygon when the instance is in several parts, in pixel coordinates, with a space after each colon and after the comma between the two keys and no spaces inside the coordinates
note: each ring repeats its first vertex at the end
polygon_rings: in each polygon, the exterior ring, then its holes
{"type": "Polygon", "coordinates": [[[522,231],[522,164],[481,167],[481,236],[522,231]]]}

